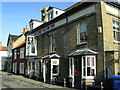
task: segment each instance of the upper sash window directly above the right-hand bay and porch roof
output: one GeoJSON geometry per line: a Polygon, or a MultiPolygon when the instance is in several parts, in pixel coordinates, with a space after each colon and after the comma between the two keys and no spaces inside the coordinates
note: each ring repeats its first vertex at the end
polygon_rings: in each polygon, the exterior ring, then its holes
{"type": "Polygon", "coordinates": [[[87,23],[78,24],[78,42],[79,44],[87,43],[87,23]]]}

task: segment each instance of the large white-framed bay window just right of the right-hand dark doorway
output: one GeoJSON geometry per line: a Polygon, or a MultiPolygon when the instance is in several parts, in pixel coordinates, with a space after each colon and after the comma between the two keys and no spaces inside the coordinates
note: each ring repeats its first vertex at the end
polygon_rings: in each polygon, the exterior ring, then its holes
{"type": "Polygon", "coordinates": [[[82,76],[83,78],[94,78],[96,75],[96,58],[95,56],[82,57],[82,76]]]}

